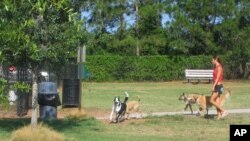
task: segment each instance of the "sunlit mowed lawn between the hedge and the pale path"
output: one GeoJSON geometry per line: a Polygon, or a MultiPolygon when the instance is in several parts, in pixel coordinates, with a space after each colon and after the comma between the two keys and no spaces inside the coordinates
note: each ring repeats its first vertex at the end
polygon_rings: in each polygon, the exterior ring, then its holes
{"type": "MultiPolygon", "coordinates": [[[[183,111],[184,102],[178,98],[182,93],[202,93],[211,95],[212,84],[173,82],[145,83],[83,83],[82,105],[85,108],[111,110],[114,96],[124,99],[124,92],[130,94],[129,100],[141,99],[141,111],[176,112],[183,111]]],[[[230,88],[231,98],[226,101],[226,109],[250,108],[250,81],[225,81],[224,88],[230,88]]],[[[194,107],[197,110],[197,107],[194,107]]]]}

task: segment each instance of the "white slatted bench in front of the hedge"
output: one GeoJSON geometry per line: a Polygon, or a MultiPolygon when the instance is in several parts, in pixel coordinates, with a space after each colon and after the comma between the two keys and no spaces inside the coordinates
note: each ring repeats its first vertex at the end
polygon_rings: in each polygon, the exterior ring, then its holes
{"type": "Polygon", "coordinates": [[[191,80],[208,80],[209,83],[213,80],[213,70],[204,70],[204,69],[186,69],[185,77],[188,80],[188,83],[191,80]]]}

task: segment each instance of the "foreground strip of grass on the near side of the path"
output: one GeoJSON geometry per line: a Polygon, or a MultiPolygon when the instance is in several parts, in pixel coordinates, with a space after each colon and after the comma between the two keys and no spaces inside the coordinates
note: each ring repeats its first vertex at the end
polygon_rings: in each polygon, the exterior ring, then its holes
{"type": "MultiPolygon", "coordinates": [[[[218,121],[213,118],[176,115],[148,117],[120,124],[94,118],[69,118],[45,124],[62,133],[66,141],[228,141],[230,124],[249,124],[249,116],[230,114],[218,121]]],[[[0,141],[9,141],[12,131],[29,123],[28,119],[0,119],[0,141]]]]}

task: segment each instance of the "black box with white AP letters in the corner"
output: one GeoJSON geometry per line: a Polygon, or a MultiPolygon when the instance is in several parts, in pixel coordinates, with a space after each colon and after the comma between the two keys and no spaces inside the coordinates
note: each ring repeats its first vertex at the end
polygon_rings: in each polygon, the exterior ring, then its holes
{"type": "Polygon", "coordinates": [[[249,141],[250,125],[230,125],[230,141],[249,141]]]}

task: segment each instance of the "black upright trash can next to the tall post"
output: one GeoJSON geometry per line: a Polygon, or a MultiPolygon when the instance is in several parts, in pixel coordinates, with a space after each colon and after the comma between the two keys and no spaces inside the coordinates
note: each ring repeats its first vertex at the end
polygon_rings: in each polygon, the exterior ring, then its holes
{"type": "Polygon", "coordinates": [[[63,79],[62,106],[79,106],[79,79],[63,79]]]}

